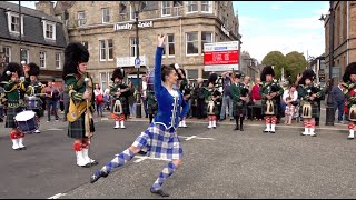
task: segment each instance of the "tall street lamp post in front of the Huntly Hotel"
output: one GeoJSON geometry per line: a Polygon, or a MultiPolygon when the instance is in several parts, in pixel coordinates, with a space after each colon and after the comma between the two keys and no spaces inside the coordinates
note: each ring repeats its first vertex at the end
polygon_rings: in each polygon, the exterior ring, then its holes
{"type": "MultiPolygon", "coordinates": [[[[130,6],[135,11],[136,19],[136,60],[140,59],[140,50],[139,50],[139,38],[138,38],[138,13],[145,8],[146,3],[144,1],[130,1],[130,6]]],[[[140,61],[139,61],[140,62],[140,61]]],[[[135,63],[137,64],[137,63],[135,63]]],[[[136,118],[141,118],[141,86],[140,86],[140,63],[137,67],[137,103],[136,103],[136,118]]]]}

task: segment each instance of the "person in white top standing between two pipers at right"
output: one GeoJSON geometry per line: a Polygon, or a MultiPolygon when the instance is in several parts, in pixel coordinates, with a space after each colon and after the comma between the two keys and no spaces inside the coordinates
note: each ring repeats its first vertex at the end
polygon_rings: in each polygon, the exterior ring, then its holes
{"type": "Polygon", "coordinates": [[[296,103],[298,100],[298,92],[296,86],[291,84],[289,90],[283,93],[283,102],[286,104],[285,109],[285,124],[291,124],[291,119],[295,113],[296,103]]]}

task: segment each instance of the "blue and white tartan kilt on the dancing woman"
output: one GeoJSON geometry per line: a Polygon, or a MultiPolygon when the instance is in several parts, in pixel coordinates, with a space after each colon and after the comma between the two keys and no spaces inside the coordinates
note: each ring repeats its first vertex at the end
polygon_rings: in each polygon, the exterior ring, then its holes
{"type": "Polygon", "coordinates": [[[147,156],[166,160],[181,160],[181,141],[174,128],[152,122],[132,143],[138,149],[147,148],[147,156]]]}

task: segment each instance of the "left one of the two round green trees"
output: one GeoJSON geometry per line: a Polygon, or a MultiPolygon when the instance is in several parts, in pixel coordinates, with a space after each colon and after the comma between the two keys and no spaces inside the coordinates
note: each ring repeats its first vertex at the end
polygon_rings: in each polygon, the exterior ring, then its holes
{"type": "Polygon", "coordinates": [[[286,69],[286,58],[280,51],[270,51],[263,59],[263,64],[274,66],[275,79],[280,79],[281,68],[286,69]]]}

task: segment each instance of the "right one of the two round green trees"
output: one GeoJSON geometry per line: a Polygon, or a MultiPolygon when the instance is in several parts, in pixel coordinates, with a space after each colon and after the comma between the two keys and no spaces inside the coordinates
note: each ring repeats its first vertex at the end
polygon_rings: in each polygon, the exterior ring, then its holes
{"type": "Polygon", "coordinates": [[[291,51],[286,54],[285,74],[287,78],[288,76],[290,76],[289,81],[295,82],[297,79],[297,74],[303,73],[306,66],[307,61],[305,60],[304,54],[297,51],[291,51]]]}

